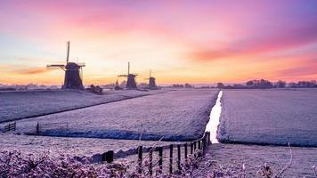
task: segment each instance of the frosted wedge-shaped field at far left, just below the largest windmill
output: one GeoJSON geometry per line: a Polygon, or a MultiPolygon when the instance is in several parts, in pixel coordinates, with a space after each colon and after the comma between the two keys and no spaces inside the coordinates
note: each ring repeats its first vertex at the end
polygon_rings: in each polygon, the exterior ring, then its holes
{"type": "Polygon", "coordinates": [[[162,92],[167,90],[105,91],[104,95],[77,90],[0,92],[0,123],[162,92]]]}

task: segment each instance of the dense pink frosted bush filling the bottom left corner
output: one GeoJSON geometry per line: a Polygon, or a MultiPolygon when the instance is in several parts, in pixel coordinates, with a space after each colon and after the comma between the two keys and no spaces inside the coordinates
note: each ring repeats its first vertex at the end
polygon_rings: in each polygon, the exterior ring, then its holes
{"type": "Polygon", "coordinates": [[[125,172],[122,165],[93,165],[68,154],[53,156],[46,151],[35,156],[23,155],[19,150],[0,151],[1,177],[119,177],[125,172]]]}

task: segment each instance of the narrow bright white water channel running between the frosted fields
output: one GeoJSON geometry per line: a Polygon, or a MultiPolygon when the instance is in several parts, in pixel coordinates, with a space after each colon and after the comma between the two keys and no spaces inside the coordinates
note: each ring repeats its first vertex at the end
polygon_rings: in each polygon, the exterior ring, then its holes
{"type": "Polygon", "coordinates": [[[212,143],[219,143],[217,136],[217,128],[220,123],[220,114],[221,114],[221,98],[223,96],[223,91],[220,91],[218,94],[217,101],[215,102],[215,106],[210,112],[210,119],[208,124],[206,125],[206,132],[210,132],[210,140],[212,143]]]}

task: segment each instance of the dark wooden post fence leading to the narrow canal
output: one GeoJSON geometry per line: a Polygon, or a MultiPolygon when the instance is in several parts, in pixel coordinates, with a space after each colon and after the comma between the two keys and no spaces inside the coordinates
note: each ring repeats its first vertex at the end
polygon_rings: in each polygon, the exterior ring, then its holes
{"type": "MultiPolygon", "coordinates": [[[[174,160],[174,147],[177,150],[177,156],[176,156],[176,165],[177,169],[179,171],[182,170],[181,166],[181,161],[182,161],[182,154],[181,150],[183,148],[183,158],[187,159],[189,154],[193,154],[195,150],[201,150],[203,154],[205,154],[207,150],[207,146],[211,144],[210,142],[210,133],[206,132],[203,137],[200,139],[193,141],[193,142],[185,142],[182,144],[171,144],[167,146],[159,146],[155,148],[148,148],[146,150],[143,149],[142,146],[139,146],[137,149],[137,154],[138,155],[138,173],[142,174],[144,171],[142,169],[142,160],[143,160],[143,153],[148,152],[149,155],[149,170],[148,174],[152,175],[153,174],[153,167],[158,165],[158,173],[163,172],[163,150],[169,150],[169,161],[168,161],[168,168],[169,168],[169,173],[173,173],[173,160],[174,160]],[[153,164],[153,151],[158,152],[158,162],[153,164]]],[[[114,157],[114,151],[109,150],[102,155],[102,161],[107,162],[107,163],[112,163],[114,157]]]]}

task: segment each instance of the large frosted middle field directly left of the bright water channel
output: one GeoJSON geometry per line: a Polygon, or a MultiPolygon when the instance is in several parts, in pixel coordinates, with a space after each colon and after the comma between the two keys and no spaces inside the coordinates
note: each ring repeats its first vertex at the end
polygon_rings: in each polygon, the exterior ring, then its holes
{"type": "Polygon", "coordinates": [[[21,133],[40,124],[69,123],[45,135],[183,141],[199,138],[217,90],[180,90],[17,121],[21,133]]]}

